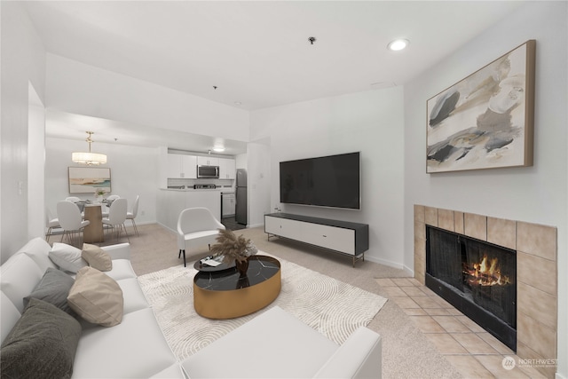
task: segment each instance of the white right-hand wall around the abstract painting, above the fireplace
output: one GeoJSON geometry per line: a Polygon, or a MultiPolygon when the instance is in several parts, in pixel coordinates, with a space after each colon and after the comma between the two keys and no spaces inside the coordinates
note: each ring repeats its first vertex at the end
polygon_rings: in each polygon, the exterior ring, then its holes
{"type": "Polygon", "coordinates": [[[558,228],[562,272],[558,276],[558,372],[564,377],[568,377],[566,4],[525,5],[407,83],[404,136],[406,266],[413,266],[414,204],[558,228]],[[533,167],[427,175],[426,100],[529,39],[535,39],[537,46],[533,167]]]}

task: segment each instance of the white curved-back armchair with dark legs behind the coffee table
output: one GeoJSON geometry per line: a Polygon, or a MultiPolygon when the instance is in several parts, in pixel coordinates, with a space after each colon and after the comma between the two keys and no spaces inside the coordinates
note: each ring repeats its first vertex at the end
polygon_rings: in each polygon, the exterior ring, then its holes
{"type": "Polygon", "coordinates": [[[185,249],[209,245],[217,240],[219,229],[225,229],[213,213],[207,208],[188,208],[181,211],[177,218],[177,259],[184,254],[185,249]]]}

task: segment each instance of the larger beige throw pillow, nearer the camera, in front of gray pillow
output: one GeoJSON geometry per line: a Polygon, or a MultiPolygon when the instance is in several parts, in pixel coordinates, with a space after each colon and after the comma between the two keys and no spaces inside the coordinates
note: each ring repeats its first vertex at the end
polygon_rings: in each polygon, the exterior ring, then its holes
{"type": "Polygon", "coordinates": [[[79,316],[93,324],[114,327],[122,321],[122,289],[114,279],[93,267],[83,267],[77,272],[67,303],[79,316]]]}

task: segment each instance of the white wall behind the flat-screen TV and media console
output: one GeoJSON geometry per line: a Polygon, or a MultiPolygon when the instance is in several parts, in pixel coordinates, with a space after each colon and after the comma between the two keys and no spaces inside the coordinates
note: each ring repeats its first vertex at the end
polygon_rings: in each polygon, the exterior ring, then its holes
{"type": "MultiPolygon", "coordinates": [[[[252,140],[270,138],[270,209],[369,225],[368,260],[403,266],[403,91],[391,88],[316,99],[251,113],[252,140]],[[361,152],[362,209],[280,204],[279,163],[292,159],[361,152]]],[[[251,162],[249,159],[248,162],[251,162]]],[[[259,175],[251,172],[249,177],[259,175]]],[[[253,198],[252,201],[257,201],[253,198]]],[[[249,219],[264,204],[251,205],[249,219]]]]}

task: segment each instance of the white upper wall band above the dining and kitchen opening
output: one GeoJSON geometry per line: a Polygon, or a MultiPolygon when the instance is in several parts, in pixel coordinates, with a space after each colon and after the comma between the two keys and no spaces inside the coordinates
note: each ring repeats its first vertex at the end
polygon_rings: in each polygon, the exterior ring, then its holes
{"type": "Polygon", "coordinates": [[[46,107],[248,141],[248,111],[47,54],[46,107]]]}

